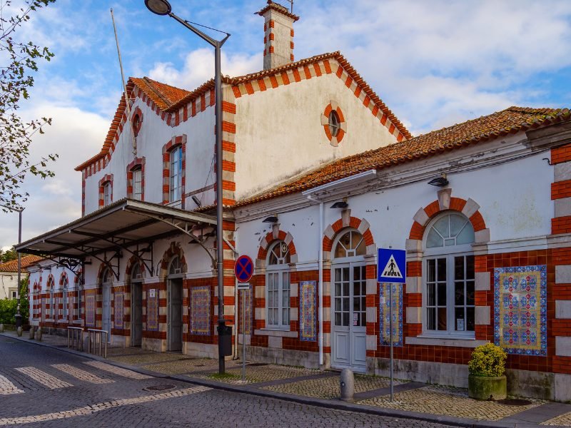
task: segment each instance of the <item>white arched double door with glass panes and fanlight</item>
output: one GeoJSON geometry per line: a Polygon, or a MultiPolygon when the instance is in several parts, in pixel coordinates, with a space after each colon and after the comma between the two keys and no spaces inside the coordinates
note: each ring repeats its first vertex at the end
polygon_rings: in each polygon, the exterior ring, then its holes
{"type": "Polygon", "coordinates": [[[353,228],[341,231],[333,242],[331,365],[355,372],[367,370],[366,253],[363,235],[353,228]]]}

